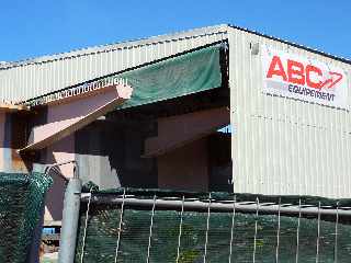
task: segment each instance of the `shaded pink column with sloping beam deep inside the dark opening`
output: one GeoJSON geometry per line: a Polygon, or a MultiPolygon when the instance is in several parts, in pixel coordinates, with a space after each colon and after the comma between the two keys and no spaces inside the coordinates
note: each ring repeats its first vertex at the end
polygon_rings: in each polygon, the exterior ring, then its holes
{"type": "Polygon", "coordinates": [[[229,123],[226,107],[158,119],[158,136],[145,142],[145,157],[157,157],[158,186],[208,191],[206,136],[229,123]]]}

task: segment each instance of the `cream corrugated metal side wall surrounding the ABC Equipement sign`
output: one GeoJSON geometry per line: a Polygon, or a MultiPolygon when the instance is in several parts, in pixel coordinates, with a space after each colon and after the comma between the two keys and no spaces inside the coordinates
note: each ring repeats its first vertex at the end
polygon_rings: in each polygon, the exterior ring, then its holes
{"type": "Polygon", "coordinates": [[[236,28],[228,41],[235,192],[350,197],[350,113],[263,94],[261,54],[250,44],[342,68],[349,88],[351,66],[236,28]]]}

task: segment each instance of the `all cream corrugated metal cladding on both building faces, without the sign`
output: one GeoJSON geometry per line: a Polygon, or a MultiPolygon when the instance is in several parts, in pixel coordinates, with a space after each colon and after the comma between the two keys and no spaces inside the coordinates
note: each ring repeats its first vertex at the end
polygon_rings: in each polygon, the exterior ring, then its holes
{"type": "Polygon", "coordinates": [[[350,113],[263,94],[261,55],[250,44],[343,68],[348,87],[351,66],[242,30],[204,27],[20,62],[0,69],[0,99],[29,100],[226,38],[235,192],[350,197],[350,113]]]}

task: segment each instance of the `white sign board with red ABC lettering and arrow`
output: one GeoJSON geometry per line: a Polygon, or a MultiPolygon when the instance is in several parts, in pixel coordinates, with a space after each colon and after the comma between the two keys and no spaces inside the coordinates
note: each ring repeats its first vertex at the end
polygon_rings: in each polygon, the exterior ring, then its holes
{"type": "Polygon", "coordinates": [[[346,72],[327,62],[262,46],[263,92],[347,108],[346,72]]]}

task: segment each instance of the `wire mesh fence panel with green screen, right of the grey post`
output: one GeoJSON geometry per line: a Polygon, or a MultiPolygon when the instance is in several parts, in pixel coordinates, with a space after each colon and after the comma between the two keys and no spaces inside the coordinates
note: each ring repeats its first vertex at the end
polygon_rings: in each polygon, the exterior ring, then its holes
{"type": "MultiPolygon", "coordinates": [[[[91,195],[82,262],[285,263],[351,259],[348,201],[343,201],[343,216],[337,220],[331,205],[337,201],[324,199],[326,205],[320,206],[317,197],[304,198],[304,205],[298,205],[301,197],[284,197],[281,205],[272,203],[276,197],[264,197],[265,203],[259,203],[258,197],[236,195],[239,202],[234,203],[233,194],[216,193],[208,202],[208,194],[127,190],[121,217],[122,193],[114,190],[91,195]],[[306,208],[306,202],[315,206],[306,208]]],[[[76,259],[81,254],[84,209],[82,206],[76,259]]]]}

